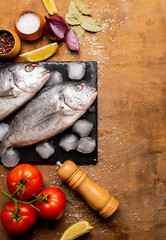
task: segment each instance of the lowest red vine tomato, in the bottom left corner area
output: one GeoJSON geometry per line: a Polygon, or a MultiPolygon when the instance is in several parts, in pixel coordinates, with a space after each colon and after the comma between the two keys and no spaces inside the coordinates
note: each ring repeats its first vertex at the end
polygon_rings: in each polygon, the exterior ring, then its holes
{"type": "Polygon", "coordinates": [[[13,201],[7,203],[1,212],[3,227],[13,235],[19,235],[26,232],[35,224],[37,219],[37,211],[33,207],[22,203],[17,204],[17,207],[18,211],[15,217],[14,213],[11,212],[16,212],[15,203],[13,201]]]}

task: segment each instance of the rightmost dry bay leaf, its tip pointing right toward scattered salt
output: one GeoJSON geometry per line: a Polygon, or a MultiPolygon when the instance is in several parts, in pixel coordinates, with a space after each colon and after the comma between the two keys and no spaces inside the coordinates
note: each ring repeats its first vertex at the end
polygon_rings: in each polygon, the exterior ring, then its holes
{"type": "Polygon", "coordinates": [[[102,30],[102,27],[95,19],[83,15],[81,16],[81,27],[89,32],[100,32],[102,30]]]}

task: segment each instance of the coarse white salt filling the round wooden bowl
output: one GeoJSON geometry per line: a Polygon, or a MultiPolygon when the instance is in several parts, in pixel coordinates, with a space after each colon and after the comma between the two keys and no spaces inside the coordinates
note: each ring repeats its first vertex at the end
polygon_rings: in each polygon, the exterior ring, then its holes
{"type": "Polygon", "coordinates": [[[20,32],[31,34],[38,30],[40,26],[40,19],[35,13],[23,14],[17,23],[17,28],[20,32]]]}

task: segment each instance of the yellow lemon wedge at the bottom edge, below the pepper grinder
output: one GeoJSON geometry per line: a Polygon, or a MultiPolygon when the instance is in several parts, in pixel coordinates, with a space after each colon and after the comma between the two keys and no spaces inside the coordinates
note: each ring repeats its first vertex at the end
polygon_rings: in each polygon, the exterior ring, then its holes
{"type": "Polygon", "coordinates": [[[81,221],[81,222],[75,223],[66,229],[66,231],[63,233],[60,240],[75,239],[87,232],[90,232],[92,228],[93,227],[89,225],[88,221],[81,221]]]}

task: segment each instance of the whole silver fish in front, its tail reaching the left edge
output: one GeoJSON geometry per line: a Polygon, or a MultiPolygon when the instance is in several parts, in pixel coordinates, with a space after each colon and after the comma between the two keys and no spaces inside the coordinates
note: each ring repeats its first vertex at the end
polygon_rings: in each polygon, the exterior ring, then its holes
{"type": "Polygon", "coordinates": [[[45,87],[14,117],[0,143],[0,155],[11,146],[32,145],[66,130],[87,111],[96,96],[96,89],[84,83],[45,87]]]}

